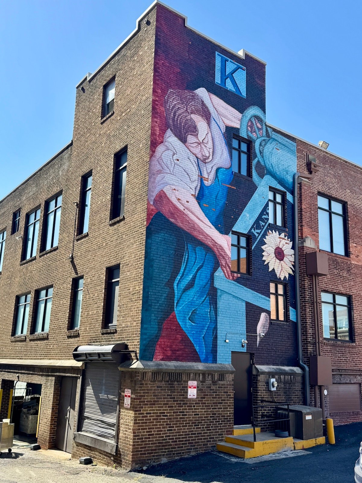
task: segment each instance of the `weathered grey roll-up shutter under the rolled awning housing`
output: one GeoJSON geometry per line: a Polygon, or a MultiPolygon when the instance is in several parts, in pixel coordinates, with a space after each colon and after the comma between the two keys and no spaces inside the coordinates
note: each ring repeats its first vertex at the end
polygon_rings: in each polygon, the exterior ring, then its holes
{"type": "Polygon", "coordinates": [[[113,440],[116,433],[120,372],[115,362],[87,362],[81,431],[113,440]]]}

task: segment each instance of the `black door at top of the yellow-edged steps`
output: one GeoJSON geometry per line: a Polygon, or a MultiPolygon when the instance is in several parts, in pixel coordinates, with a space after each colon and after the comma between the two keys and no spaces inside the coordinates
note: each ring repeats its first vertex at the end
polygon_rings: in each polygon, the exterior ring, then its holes
{"type": "Polygon", "coordinates": [[[251,424],[251,354],[232,352],[234,372],[234,425],[251,424]]]}

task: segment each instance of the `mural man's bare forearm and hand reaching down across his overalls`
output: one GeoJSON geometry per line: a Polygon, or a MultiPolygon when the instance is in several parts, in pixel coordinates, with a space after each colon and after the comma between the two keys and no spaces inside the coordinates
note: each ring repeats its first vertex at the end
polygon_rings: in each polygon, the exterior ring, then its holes
{"type": "Polygon", "coordinates": [[[154,198],[153,205],[175,225],[208,245],[217,256],[226,278],[231,273],[231,239],[215,229],[200,209],[196,199],[183,188],[166,186],[154,198]]]}

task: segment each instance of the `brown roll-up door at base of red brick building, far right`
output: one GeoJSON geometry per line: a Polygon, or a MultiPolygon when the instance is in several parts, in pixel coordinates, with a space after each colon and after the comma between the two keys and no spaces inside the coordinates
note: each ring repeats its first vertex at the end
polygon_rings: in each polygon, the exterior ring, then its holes
{"type": "Polygon", "coordinates": [[[329,412],[361,411],[361,384],[328,386],[329,412]]]}

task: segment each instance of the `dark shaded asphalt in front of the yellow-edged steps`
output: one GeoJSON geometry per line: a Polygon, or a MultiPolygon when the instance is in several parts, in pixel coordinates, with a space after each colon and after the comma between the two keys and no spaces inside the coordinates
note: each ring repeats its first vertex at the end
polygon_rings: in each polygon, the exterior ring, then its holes
{"type": "Polygon", "coordinates": [[[278,457],[269,455],[246,462],[220,452],[208,452],[149,467],[140,473],[200,483],[353,483],[362,423],[336,426],[334,433],[334,445],[279,453],[278,457]]]}

